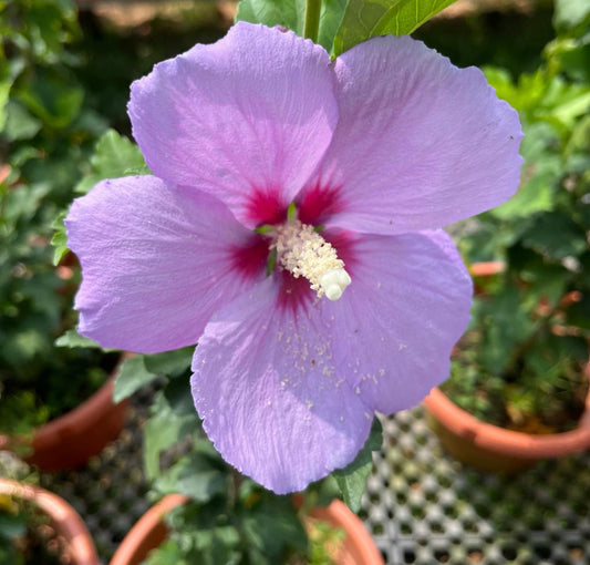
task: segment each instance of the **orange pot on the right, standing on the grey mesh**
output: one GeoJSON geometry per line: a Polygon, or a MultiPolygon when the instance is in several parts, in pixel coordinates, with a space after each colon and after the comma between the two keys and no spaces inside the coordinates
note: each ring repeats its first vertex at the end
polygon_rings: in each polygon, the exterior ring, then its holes
{"type": "MultiPolygon", "coordinates": [[[[590,378],[590,364],[586,366],[590,378]]],[[[590,448],[590,393],[576,430],[531,435],[482,422],[433,389],[423,401],[441,443],[452,455],[482,471],[513,473],[542,459],[590,448]]]]}

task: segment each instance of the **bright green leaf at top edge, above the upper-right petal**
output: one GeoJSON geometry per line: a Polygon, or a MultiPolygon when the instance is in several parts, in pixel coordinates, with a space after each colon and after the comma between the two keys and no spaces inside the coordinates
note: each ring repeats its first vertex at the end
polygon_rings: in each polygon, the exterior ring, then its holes
{"type": "Polygon", "coordinates": [[[349,0],[334,39],[333,54],[375,35],[405,35],[455,0],[349,0]]]}

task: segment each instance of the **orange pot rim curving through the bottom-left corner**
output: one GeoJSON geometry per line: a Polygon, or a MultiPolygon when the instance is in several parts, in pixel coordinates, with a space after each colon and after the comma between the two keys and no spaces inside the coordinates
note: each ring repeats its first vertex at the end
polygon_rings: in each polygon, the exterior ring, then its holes
{"type": "Polygon", "coordinates": [[[63,499],[44,489],[8,479],[0,479],[0,495],[30,502],[49,516],[55,534],[64,542],[68,563],[72,565],[99,565],[99,556],[84,522],[63,499]]]}

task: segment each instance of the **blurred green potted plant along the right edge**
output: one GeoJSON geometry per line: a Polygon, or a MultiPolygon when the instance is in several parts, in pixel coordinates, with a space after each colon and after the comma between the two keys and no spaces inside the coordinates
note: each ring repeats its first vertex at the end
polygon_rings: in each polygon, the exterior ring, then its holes
{"type": "Polygon", "coordinates": [[[590,336],[590,3],[557,0],[544,64],[514,80],[485,69],[521,117],[521,185],[463,226],[476,280],[470,330],[442,389],[479,419],[530,433],[575,428],[588,392],[590,336]]]}

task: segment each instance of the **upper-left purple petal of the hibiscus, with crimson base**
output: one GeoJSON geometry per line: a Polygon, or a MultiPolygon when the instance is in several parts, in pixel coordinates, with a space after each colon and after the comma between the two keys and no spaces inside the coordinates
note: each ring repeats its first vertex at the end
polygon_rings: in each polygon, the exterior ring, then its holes
{"type": "Polygon", "coordinates": [[[214,194],[248,227],[281,219],[338,120],[328,53],[245,22],[157,64],[128,111],[154,174],[214,194]]]}

